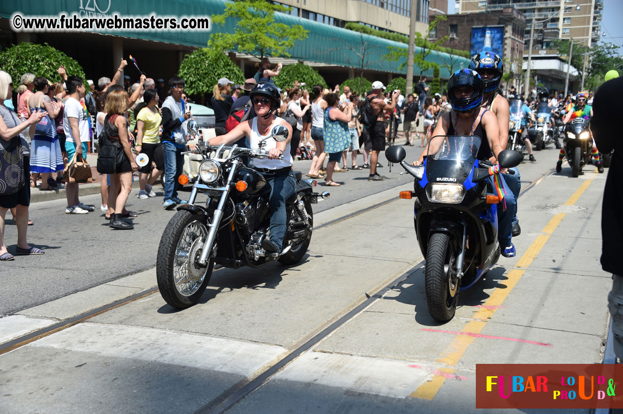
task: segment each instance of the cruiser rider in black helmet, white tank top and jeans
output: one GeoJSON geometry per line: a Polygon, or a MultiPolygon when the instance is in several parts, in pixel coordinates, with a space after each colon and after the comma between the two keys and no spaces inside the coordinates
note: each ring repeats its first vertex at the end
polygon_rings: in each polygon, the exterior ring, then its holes
{"type": "Polygon", "coordinates": [[[269,156],[264,159],[255,159],[254,168],[262,172],[267,185],[263,193],[269,193],[270,206],[270,239],[262,241],[262,248],[267,252],[281,252],[283,237],[287,228],[287,212],[285,200],[295,193],[296,178],[292,171],[292,155],[290,155],[290,140],[292,126],[282,118],[275,116],[275,109],[279,108],[280,99],[277,86],[270,82],[258,83],[249,93],[256,117],[249,121],[240,122],[227,134],[212,138],[210,145],[232,145],[242,137],[249,137],[251,149],[258,149],[261,140],[270,137],[273,127],[283,125],[288,129],[288,139],[278,142],[267,139],[265,149],[269,156]],[[283,160],[279,157],[283,155],[283,160]]]}

